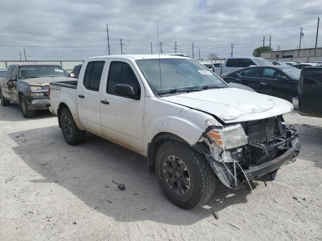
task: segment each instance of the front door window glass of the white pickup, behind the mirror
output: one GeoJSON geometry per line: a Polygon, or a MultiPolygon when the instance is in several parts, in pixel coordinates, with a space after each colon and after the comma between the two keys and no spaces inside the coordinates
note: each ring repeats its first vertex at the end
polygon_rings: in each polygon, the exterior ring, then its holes
{"type": "Polygon", "coordinates": [[[140,96],[140,84],[131,68],[127,63],[112,62],[107,84],[107,93],[114,94],[116,84],[129,84],[133,87],[136,96],[140,96]]]}

